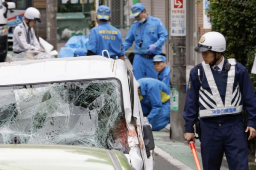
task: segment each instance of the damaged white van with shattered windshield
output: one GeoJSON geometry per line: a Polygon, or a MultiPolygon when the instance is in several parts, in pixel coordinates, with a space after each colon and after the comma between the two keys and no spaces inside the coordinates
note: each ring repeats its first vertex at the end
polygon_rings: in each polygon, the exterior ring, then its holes
{"type": "Polygon", "coordinates": [[[155,148],[136,79],[102,56],[0,63],[0,144],[78,145],[123,152],[152,170],[155,148]]]}

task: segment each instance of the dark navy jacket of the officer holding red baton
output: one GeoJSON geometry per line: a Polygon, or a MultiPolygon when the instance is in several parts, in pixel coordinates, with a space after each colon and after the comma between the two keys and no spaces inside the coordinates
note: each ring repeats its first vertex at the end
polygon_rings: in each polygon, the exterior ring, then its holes
{"type": "MultiPolygon", "coordinates": [[[[224,59],[224,65],[226,63],[227,59],[224,59]]],[[[234,65],[235,76],[233,78],[232,89],[229,89],[230,84],[227,82],[229,71],[222,69],[221,72],[217,72],[211,68],[213,79],[216,83],[215,90],[219,91],[220,97],[220,101],[214,101],[209,98],[211,95],[213,95],[213,97],[216,96],[213,92],[215,91],[213,90],[214,86],[209,86],[211,82],[209,83],[206,78],[206,76],[209,75],[205,74],[202,64],[192,68],[189,75],[189,84],[183,112],[183,117],[186,122],[186,132],[194,133],[193,124],[199,117],[199,111],[205,110],[206,107],[210,109],[213,108],[214,111],[214,108],[219,107],[218,102],[227,103],[226,100],[235,103],[235,106],[242,105],[243,108],[247,110],[247,126],[256,128],[256,96],[246,68],[240,63],[234,65]],[[201,76],[198,76],[198,71],[201,76]],[[227,86],[229,86],[229,88],[227,88],[227,86]],[[227,98],[227,90],[231,90],[232,98],[227,98]],[[214,107],[214,105],[216,106],[214,107]]],[[[228,112],[226,112],[225,109],[221,109],[219,111],[219,113],[216,112],[217,114],[211,117],[200,117],[200,122],[212,127],[216,127],[216,123],[218,122],[223,123],[224,126],[230,126],[237,121],[241,121],[243,117],[241,112],[235,112],[235,110],[231,110],[230,112],[227,110],[228,112]]]]}

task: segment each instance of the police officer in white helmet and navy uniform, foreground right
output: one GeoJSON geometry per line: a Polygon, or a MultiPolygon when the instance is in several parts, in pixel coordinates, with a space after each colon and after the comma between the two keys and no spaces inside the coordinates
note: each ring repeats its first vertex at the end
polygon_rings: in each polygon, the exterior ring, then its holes
{"type": "Polygon", "coordinates": [[[195,47],[204,61],[189,74],[184,138],[195,141],[193,125],[199,118],[203,169],[219,170],[225,153],[230,170],[248,170],[247,140],[256,136],[256,96],[246,68],[224,58],[225,50],[225,37],[215,31],[204,34],[195,47]]]}

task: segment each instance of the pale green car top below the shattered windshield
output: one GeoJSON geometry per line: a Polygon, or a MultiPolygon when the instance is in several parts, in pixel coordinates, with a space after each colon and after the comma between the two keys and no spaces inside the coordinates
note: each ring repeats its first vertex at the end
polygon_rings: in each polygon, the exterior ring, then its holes
{"type": "Polygon", "coordinates": [[[122,152],[66,145],[0,145],[0,169],[131,169],[122,152]]]}

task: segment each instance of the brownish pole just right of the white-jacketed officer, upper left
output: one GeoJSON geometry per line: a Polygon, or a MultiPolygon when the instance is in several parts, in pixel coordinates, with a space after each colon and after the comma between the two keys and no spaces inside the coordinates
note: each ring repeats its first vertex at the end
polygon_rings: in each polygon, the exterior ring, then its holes
{"type": "Polygon", "coordinates": [[[57,50],[57,0],[46,0],[47,41],[57,50]]]}

